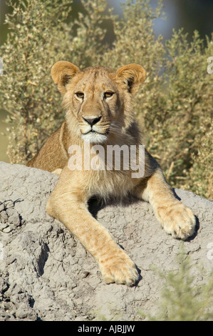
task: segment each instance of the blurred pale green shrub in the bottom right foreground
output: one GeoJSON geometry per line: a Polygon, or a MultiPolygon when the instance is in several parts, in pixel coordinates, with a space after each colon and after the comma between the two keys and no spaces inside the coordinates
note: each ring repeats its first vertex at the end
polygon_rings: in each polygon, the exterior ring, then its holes
{"type": "MultiPolygon", "coordinates": [[[[206,276],[207,281],[199,285],[195,281],[192,261],[185,256],[183,249],[177,258],[178,271],[158,272],[164,280],[160,297],[159,313],[149,320],[163,321],[205,321],[213,320],[212,295],[213,273],[206,276]]],[[[197,272],[203,271],[195,267],[197,272]]]]}

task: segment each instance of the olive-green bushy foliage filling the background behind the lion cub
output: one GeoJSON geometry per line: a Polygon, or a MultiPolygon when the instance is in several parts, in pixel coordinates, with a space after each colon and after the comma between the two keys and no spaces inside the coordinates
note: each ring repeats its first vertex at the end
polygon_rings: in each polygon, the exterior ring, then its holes
{"type": "Polygon", "coordinates": [[[213,197],[213,74],[207,73],[212,38],[203,41],[194,31],[189,42],[180,29],[165,44],[162,36],[156,39],[152,26],[154,19],[164,17],[161,1],[155,9],[148,0],[126,1],[122,18],[107,9],[105,0],[82,1],[84,11],[72,21],[70,0],[9,3],[10,34],[0,48],[0,103],[9,112],[12,163],[26,163],[63,120],[61,97],[50,76],[55,61],[115,69],[136,62],[147,70],[135,101],[147,149],[172,187],[213,197]],[[105,21],[113,26],[112,45],[105,21]]]}

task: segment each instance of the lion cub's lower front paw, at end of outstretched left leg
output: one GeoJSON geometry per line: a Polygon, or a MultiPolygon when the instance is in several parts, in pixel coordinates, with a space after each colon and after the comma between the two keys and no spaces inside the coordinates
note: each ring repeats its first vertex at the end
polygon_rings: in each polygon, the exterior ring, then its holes
{"type": "Polygon", "coordinates": [[[110,284],[134,285],[139,279],[135,263],[123,252],[122,249],[116,252],[116,255],[110,256],[104,261],[100,261],[100,271],[103,280],[110,284]]]}

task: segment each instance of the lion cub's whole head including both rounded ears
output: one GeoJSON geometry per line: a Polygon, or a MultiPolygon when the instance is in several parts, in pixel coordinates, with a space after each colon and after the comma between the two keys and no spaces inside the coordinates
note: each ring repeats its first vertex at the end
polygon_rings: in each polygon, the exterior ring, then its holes
{"type": "Polygon", "coordinates": [[[63,94],[69,128],[97,144],[130,126],[132,97],[145,80],[145,69],[128,64],[117,71],[103,66],[80,71],[68,61],[58,61],[51,76],[63,94]]]}

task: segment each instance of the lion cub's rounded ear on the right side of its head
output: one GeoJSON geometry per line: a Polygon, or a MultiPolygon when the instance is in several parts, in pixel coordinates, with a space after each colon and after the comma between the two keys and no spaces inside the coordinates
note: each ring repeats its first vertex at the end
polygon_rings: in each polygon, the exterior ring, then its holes
{"type": "Polygon", "coordinates": [[[125,84],[128,85],[129,92],[136,94],[140,84],[145,81],[145,69],[136,63],[127,64],[122,66],[116,71],[117,77],[123,79],[125,84]]]}

